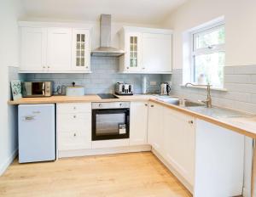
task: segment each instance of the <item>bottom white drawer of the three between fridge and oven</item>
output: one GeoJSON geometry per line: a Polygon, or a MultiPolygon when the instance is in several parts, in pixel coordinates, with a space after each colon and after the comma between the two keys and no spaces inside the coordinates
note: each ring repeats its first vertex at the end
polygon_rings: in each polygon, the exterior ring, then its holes
{"type": "Polygon", "coordinates": [[[91,149],[91,134],[87,132],[59,132],[58,150],[91,149]]]}

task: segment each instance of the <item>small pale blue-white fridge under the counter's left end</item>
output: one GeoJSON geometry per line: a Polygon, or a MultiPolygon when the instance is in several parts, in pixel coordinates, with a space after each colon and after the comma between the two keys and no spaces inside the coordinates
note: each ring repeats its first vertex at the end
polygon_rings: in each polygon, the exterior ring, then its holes
{"type": "Polygon", "coordinates": [[[55,160],[55,104],[20,104],[19,162],[55,160]]]}

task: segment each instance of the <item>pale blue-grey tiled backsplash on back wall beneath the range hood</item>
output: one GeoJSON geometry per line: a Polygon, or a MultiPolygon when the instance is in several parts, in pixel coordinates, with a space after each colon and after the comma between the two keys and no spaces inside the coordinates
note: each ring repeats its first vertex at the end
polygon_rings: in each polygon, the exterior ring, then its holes
{"type": "Polygon", "coordinates": [[[119,73],[119,59],[114,57],[92,57],[90,66],[91,74],[26,74],[26,80],[54,81],[55,87],[70,86],[72,82],[76,82],[76,84],[84,85],[86,94],[113,93],[116,82],[126,82],[134,85],[135,93],[142,93],[143,76],[146,76],[148,93],[158,93],[164,76],[121,74],[119,73]],[[156,85],[150,85],[150,82],[156,82],[156,85]]]}

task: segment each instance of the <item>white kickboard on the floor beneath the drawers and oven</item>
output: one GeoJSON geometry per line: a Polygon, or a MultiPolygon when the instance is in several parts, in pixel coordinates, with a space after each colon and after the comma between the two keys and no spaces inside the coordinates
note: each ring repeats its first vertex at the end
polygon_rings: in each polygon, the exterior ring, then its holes
{"type": "Polygon", "coordinates": [[[108,154],[119,154],[119,153],[132,153],[132,152],[143,152],[150,151],[151,146],[137,145],[137,146],[124,146],[114,148],[100,148],[100,149],[79,149],[79,150],[63,150],[59,151],[59,158],[73,157],[73,156],[88,156],[88,155],[108,155],[108,154]]]}

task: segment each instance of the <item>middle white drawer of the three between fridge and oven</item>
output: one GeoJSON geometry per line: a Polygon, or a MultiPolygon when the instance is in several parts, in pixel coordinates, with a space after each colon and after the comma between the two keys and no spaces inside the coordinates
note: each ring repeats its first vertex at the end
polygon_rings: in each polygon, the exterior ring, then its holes
{"type": "Polygon", "coordinates": [[[90,113],[58,114],[58,131],[80,131],[91,128],[90,113]]]}

